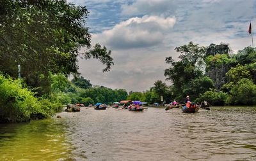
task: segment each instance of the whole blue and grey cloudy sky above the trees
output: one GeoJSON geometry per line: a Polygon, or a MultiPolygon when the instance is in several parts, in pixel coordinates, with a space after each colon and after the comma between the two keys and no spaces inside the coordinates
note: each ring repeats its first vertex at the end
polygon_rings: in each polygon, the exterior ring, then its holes
{"type": "MultiPolygon", "coordinates": [[[[252,45],[256,0],[68,0],[86,6],[92,45],[111,50],[115,65],[102,73],[97,60],[79,60],[79,72],[93,85],[145,91],[165,81],[164,59],[189,41],[199,46],[227,43],[237,52],[252,45]]],[[[255,40],[256,42],[256,40],[255,40]]],[[[254,45],[255,46],[255,45],[254,45]]],[[[165,81],[170,85],[170,82],[165,81]]]]}

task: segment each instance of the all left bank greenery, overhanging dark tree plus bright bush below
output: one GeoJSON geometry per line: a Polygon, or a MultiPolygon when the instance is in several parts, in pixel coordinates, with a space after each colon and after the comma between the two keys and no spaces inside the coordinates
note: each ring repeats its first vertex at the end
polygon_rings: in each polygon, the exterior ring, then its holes
{"type": "Polygon", "coordinates": [[[103,71],[109,71],[111,51],[99,44],[92,48],[87,17],[86,7],[67,1],[1,1],[1,122],[54,115],[62,101],[52,80],[54,76],[79,75],[79,57],[98,59],[106,65],[103,71]],[[85,52],[79,52],[81,48],[85,52]],[[22,87],[15,84],[18,65],[22,87]]]}

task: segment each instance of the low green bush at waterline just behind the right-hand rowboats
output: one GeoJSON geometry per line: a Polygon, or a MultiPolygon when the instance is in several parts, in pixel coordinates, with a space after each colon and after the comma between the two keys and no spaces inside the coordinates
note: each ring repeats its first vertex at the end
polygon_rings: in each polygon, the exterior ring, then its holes
{"type": "Polygon", "coordinates": [[[200,95],[196,102],[207,101],[215,106],[224,106],[227,100],[228,94],[225,92],[206,91],[203,95],[200,95]]]}

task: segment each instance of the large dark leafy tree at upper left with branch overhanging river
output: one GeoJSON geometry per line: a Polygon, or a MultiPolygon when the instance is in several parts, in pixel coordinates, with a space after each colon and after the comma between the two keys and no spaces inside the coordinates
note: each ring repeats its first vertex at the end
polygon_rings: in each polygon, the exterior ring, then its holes
{"type": "Polygon", "coordinates": [[[86,7],[67,1],[1,0],[0,71],[17,78],[20,64],[22,77],[32,87],[49,86],[49,71],[79,74],[79,57],[99,59],[106,64],[103,71],[109,71],[111,52],[99,44],[90,49],[87,17],[86,7]],[[81,48],[88,51],[81,53],[81,48]]]}

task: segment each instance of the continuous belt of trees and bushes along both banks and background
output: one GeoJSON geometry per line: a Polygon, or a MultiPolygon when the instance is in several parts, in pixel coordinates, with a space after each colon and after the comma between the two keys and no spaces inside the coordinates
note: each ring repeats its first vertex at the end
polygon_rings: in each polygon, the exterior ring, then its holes
{"type": "Polygon", "coordinates": [[[189,95],[193,102],[206,100],[212,105],[256,104],[255,50],[248,46],[230,53],[224,43],[176,47],[179,60],[166,57],[170,67],[163,71],[170,86],[156,79],[145,92],[129,95],[124,89],[93,86],[79,75],[77,59],[98,59],[106,65],[103,72],[114,63],[105,46],[91,46],[87,17],[84,6],[66,1],[1,1],[0,122],[47,118],[63,104],[88,106],[125,99],[169,103],[184,102],[189,95]]]}

